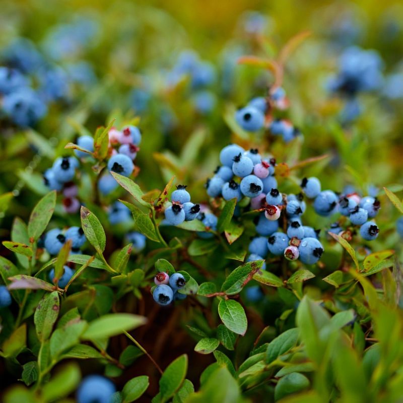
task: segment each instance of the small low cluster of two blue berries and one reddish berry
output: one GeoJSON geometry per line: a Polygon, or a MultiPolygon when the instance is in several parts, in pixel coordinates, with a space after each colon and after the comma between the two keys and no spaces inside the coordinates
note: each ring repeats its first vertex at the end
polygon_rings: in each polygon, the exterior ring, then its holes
{"type": "Polygon", "coordinates": [[[180,273],[171,276],[164,272],[157,273],[154,283],[157,287],[153,289],[153,298],[160,305],[169,305],[173,300],[186,298],[186,294],[178,292],[186,284],[185,278],[180,273]]]}

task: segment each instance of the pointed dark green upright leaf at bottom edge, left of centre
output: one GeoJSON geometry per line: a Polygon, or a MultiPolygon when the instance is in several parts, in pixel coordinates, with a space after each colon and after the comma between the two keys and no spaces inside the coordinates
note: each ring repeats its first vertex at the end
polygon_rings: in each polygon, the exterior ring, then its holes
{"type": "Polygon", "coordinates": [[[161,401],[167,401],[180,388],[187,372],[187,355],[183,354],[165,369],[160,379],[161,401]]]}

